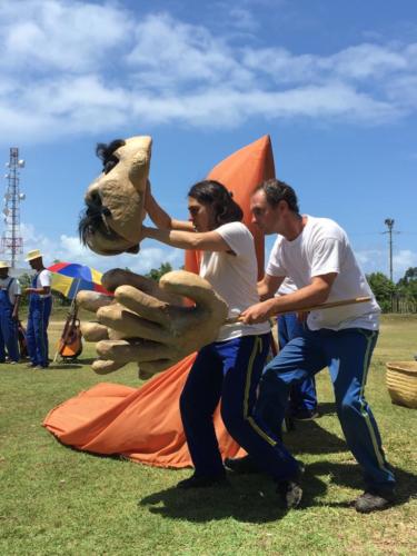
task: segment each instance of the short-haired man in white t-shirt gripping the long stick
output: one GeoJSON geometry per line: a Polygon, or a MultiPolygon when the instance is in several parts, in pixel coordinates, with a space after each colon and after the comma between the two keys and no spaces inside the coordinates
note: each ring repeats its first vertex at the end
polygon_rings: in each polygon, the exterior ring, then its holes
{"type": "MultiPolygon", "coordinates": [[[[334,220],[301,216],[290,186],[278,180],[265,181],[252,195],[250,208],[254,221],[265,234],[279,236],[259,284],[264,300],[241,314],[244,322],[262,322],[278,312],[299,311],[327,300],[370,297],[368,302],[314,310],[308,315],[302,334],[265,367],[256,415],[267,428],[272,428],[284,418],[290,385],[328,367],[347,445],[365,476],[366,490],[355,507],[361,513],[384,509],[394,502],[395,478],[364,396],[378,337],[378,304],[346,232],[334,220]],[[286,276],[295,281],[297,291],[274,297],[286,276]]],[[[280,447],[289,490],[297,488],[299,494],[300,485],[295,479],[297,473],[299,475],[298,463],[282,444],[280,447]]],[[[292,507],[299,502],[298,495],[292,507]]]]}

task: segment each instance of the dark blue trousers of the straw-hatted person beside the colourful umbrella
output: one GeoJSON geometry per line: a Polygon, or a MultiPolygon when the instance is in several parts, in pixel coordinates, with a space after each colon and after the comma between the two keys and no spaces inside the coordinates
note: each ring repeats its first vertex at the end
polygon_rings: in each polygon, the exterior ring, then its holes
{"type": "Polygon", "coordinates": [[[48,325],[52,309],[52,297],[30,295],[26,340],[32,365],[48,367],[48,325]]]}

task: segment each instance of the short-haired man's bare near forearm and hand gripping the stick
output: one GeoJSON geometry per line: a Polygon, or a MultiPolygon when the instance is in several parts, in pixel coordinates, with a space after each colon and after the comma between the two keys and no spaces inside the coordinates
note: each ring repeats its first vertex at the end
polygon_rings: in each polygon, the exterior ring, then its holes
{"type": "Polygon", "coordinates": [[[239,320],[247,325],[264,322],[268,318],[279,312],[296,312],[324,304],[329,297],[331,286],[337,277],[337,272],[315,276],[311,284],[298,289],[294,294],[267,299],[260,304],[248,307],[239,317],[239,320]]]}

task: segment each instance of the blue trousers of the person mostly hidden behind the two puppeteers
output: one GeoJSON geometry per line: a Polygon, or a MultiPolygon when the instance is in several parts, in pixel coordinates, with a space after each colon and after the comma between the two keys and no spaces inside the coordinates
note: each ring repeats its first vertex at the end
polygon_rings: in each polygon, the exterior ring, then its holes
{"type": "MultiPolygon", "coordinates": [[[[277,320],[279,349],[304,330],[302,324],[298,320],[297,314],[279,315],[277,320]]],[[[307,377],[301,383],[292,384],[289,390],[289,409],[295,415],[298,411],[316,411],[317,391],[314,377],[307,377]]]]}

